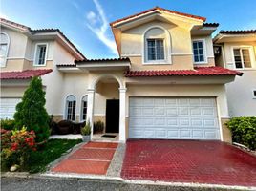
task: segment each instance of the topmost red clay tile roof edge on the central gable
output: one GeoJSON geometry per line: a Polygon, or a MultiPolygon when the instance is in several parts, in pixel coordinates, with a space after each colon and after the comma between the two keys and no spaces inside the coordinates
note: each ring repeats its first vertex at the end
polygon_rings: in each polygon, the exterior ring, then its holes
{"type": "Polygon", "coordinates": [[[127,17],[118,19],[118,20],[110,23],[110,25],[113,26],[113,25],[117,24],[118,22],[125,21],[125,20],[128,20],[128,19],[140,16],[141,14],[145,14],[145,13],[148,13],[148,12],[151,12],[151,11],[157,11],[157,10],[158,11],[166,11],[166,12],[173,13],[173,14],[179,14],[181,16],[186,16],[186,17],[190,17],[190,18],[200,19],[200,20],[203,20],[203,21],[206,20],[206,18],[201,17],[201,16],[196,16],[196,15],[192,15],[192,14],[182,13],[182,12],[179,12],[179,11],[171,11],[171,10],[155,7],[155,8],[152,8],[150,10],[142,11],[142,12],[139,12],[137,14],[133,14],[131,16],[127,16],[127,17]]]}

